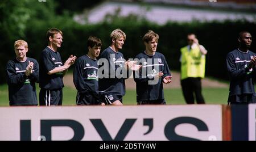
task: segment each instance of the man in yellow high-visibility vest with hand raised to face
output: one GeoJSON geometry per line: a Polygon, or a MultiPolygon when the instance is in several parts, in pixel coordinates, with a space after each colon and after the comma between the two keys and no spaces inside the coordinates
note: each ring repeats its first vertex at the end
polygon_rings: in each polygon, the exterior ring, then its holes
{"type": "Polygon", "coordinates": [[[187,35],[188,45],[181,48],[181,87],[187,104],[204,104],[201,93],[201,79],[205,73],[205,54],[207,50],[199,44],[194,33],[187,35]]]}

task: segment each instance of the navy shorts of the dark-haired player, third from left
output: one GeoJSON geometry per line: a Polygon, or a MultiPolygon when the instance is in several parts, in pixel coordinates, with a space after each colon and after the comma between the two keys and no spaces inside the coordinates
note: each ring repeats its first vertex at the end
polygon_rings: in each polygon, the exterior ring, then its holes
{"type": "Polygon", "coordinates": [[[89,91],[77,92],[76,94],[76,105],[98,105],[99,100],[93,96],[89,91]]]}

